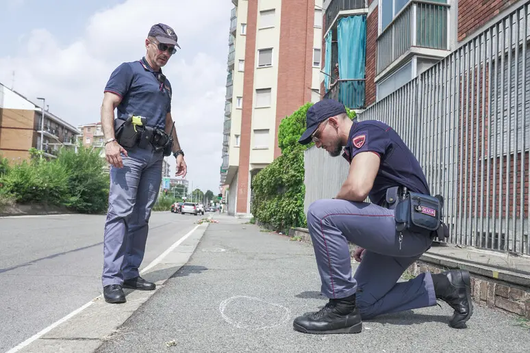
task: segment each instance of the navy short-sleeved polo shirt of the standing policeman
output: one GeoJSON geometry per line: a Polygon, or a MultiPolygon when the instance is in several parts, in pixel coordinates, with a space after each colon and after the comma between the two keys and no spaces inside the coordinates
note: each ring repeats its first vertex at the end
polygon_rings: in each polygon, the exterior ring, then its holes
{"type": "Polygon", "coordinates": [[[168,79],[161,84],[156,74],[144,57],[136,62],[124,62],[112,72],[105,92],[121,96],[116,118],[144,116],[148,126],[166,127],[166,114],[171,112],[171,84],[168,79]]]}

